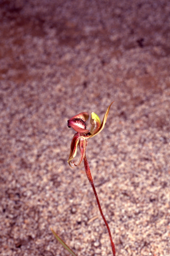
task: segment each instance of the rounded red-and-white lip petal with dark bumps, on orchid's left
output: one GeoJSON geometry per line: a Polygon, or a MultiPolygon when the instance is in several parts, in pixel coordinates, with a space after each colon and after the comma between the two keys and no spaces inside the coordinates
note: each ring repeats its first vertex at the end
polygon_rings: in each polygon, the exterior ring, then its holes
{"type": "Polygon", "coordinates": [[[86,121],[88,120],[88,113],[82,112],[78,115],[74,115],[74,117],[68,120],[68,127],[72,127],[74,131],[78,133],[88,133],[89,130],[86,129],[86,121]]]}

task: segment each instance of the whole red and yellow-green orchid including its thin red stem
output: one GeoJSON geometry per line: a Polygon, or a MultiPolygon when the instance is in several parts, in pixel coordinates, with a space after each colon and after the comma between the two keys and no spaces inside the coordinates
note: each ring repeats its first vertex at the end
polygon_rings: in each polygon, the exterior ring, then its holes
{"type": "MultiPolygon", "coordinates": [[[[112,103],[114,103],[114,101],[112,103]]],[[[102,123],[100,122],[100,118],[98,117],[98,115],[96,115],[94,112],[92,112],[92,116],[90,119],[90,124],[92,126],[91,126],[90,130],[86,129],[86,121],[88,120],[88,117],[89,117],[88,113],[86,113],[86,112],[82,112],[78,115],[74,115],[74,117],[72,117],[71,119],[68,120],[68,127],[72,127],[72,129],[74,129],[74,131],[76,131],[74,137],[72,138],[68,163],[69,163],[70,167],[72,167],[72,165],[78,166],[78,165],[80,165],[80,163],[82,163],[82,160],[84,160],[84,167],[85,167],[86,175],[87,175],[90,185],[92,186],[92,189],[94,191],[94,195],[95,195],[96,201],[98,203],[98,208],[100,210],[100,214],[102,215],[104,223],[106,224],[106,227],[108,229],[113,255],[116,256],[116,249],[114,246],[114,242],[112,241],[110,227],[109,227],[108,222],[106,221],[104,214],[102,212],[100,201],[98,199],[98,195],[97,195],[96,189],[94,187],[94,181],[92,179],[90,167],[88,165],[88,160],[86,158],[87,139],[94,137],[95,135],[100,133],[100,131],[102,131],[102,129],[104,129],[104,125],[108,118],[108,114],[109,114],[110,107],[111,107],[112,103],[108,107],[106,114],[104,115],[104,119],[103,119],[102,123]],[[72,160],[74,159],[74,157],[76,157],[78,146],[80,147],[80,159],[79,159],[78,163],[75,164],[74,161],[72,161],[72,160]]]]}

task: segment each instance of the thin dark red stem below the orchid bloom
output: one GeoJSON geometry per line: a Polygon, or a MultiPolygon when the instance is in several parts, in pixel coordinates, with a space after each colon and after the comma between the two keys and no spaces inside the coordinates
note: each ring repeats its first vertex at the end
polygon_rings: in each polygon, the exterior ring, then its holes
{"type": "Polygon", "coordinates": [[[102,208],[101,208],[101,205],[100,205],[100,201],[98,199],[98,194],[96,192],[96,189],[94,187],[94,181],[93,181],[93,178],[92,178],[92,174],[91,174],[91,171],[90,171],[90,167],[88,165],[88,159],[86,157],[86,155],[84,156],[84,167],[85,167],[85,170],[86,170],[86,175],[88,177],[88,180],[92,186],[92,189],[94,191],[94,195],[96,197],[96,201],[98,203],[98,208],[99,208],[99,211],[100,211],[100,214],[102,215],[102,218],[104,220],[104,223],[108,229],[108,233],[109,233],[109,237],[110,237],[110,243],[111,243],[111,246],[112,246],[112,252],[113,252],[113,255],[116,256],[116,249],[115,249],[115,246],[114,246],[114,242],[112,240],[112,235],[111,235],[111,232],[110,232],[110,227],[108,225],[108,222],[106,221],[105,217],[104,217],[104,213],[102,212],[102,208]]]}

